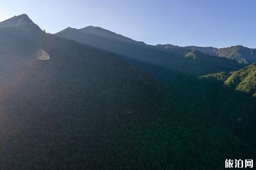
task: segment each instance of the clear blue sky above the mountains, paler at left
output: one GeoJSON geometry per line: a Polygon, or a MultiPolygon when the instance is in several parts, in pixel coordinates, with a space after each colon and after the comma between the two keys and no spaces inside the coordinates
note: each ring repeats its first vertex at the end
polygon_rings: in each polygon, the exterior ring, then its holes
{"type": "Polygon", "coordinates": [[[99,26],[147,44],[256,48],[256,0],[0,0],[47,32],[99,26]]]}

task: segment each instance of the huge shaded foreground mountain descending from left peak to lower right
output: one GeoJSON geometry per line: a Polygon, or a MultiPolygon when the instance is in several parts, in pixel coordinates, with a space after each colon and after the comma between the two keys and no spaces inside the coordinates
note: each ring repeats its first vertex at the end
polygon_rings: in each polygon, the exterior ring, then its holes
{"type": "Polygon", "coordinates": [[[1,170],[216,170],[252,158],[247,141],[191,104],[195,90],[179,99],[115,54],[46,34],[25,14],[0,23],[0,60],[1,170]]]}

